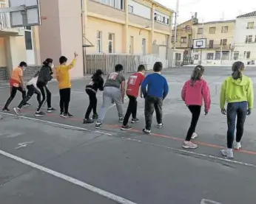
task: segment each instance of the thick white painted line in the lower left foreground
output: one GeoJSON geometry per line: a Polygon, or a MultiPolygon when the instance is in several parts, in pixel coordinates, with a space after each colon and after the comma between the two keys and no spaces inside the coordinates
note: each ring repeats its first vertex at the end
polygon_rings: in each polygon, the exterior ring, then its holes
{"type": "Polygon", "coordinates": [[[77,180],[77,179],[75,179],[75,178],[73,178],[73,177],[70,177],[70,176],[61,174],[61,173],[59,173],[59,172],[55,172],[55,171],[53,171],[52,169],[48,169],[48,168],[46,168],[46,167],[44,167],[44,166],[40,166],[40,165],[38,165],[38,164],[36,164],[36,163],[33,163],[33,162],[31,162],[31,161],[27,161],[27,160],[25,160],[25,159],[23,159],[23,158],[19,158],[19,157],[17,157],[16,155],[11,155],[11,154],[8,153],[8,152],[4,152],[4,151],[0,150],[0,154],[1,154],[1,155],[4,155],[4,156],[7,157],[7,158],[11,158],[11,159],[13,159],[13,160],[16,160],[16,161],[18,161],[18,162],[20,162],[20,163],[24,163],[24,164],[27,165],[27,166],[31,166],[31,167],[33,167],[34,169],[38,169],[38,170],[40,170],[41,172],[46,172],[46,173],[48,173],[48,174],[50,174],[50,175],[53,175],[53,176],[55,176],[55,177],[59,177],[59,178],[61,178],[62,180],[66,180],[66,181],[68,181],[68,182],[70,182],[70,183],[73,183],[73,184],[75,184],[75,185],[77,185],[77,186],[81,186],[81,187],[84,188],[84,189],[87,189],[87,190],[89,190],[89,191],[92,191],[92,192],[94,192],[94,193],[96,193],[96,194],[99,194],[99,195],[101,195],[101,196],[107,197],[107,198],[109,198],[109,199],[111,199],[111,200],[114,200],[114,201],[117,202],[117,203],[121,203],[121,204],[136,204],[136,203],[133,203],[132,201],[127,200],[127,199],[125,199],[125,198],[123,198],[123,197],[119,197],[119,196],[117,196],[117,195],[115,195],[115,194],[112,194],[112,193],[110,193],[110,192],[108,192],[108,191],[104,191],[104,190],[102,190],[102,189],[98,189],[98,188],[95,187],[95,186],[91,186],[91,185],[88,184],[88,183],[84,183],[84,182],[82,182],[81,180],[77,180]]]}

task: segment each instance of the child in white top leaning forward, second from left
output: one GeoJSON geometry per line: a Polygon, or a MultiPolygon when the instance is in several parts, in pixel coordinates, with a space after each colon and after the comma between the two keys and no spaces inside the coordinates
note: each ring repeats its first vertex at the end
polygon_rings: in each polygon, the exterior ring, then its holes
{"type": "Polygon", "coordinates": [[[17,115],[21,114],[21,108],[30,100],[30,98],[33,96],[33,94],[36,94],[37,101],[38,101],[38,106],[40,105],[41,102],[41,93],[38,87],[36,86],[37,80],[38,80],[38,74],[39,71],[35,74],[35,76],[27,82],[27,96],[20,102],[18,105],[18,108],[13,108],[13,110],[16,112],[17,115]]]}

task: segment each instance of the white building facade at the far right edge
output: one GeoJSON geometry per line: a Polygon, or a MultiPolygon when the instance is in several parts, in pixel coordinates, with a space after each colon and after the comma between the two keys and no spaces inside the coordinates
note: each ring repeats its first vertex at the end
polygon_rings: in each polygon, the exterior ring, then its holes
{"type": "Polygon", "coordinates": [[[235,22],[233,60],[246,64],[256,60],[256,11],[239,15],[235,22]]]}

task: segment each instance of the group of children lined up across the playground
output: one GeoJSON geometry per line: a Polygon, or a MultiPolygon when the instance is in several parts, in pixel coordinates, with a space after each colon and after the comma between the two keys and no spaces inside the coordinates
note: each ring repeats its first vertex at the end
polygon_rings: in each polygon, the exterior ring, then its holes
{"type": "MultiPolygon", "coordinates": [[[[60,57],[60,66],[55,68],[56,79],[58,80],[58,88],[60,94],[60,116],[64,118],[73,117],[69,113],[71,82],[70,82],[70,69],[75,66],[76,57],[72,63],[67,65],[67,57],[60,57]]],[[[36,110],[36,116],[43,116],[45,113],[41,111],[45,101],[47,101],[47,112],[55,111],[51,107],[51,93],[47,88],[47,82],[53,79],[53,59],[47,58],[44,61],[43,66],[38,73],[33,77],[30,82],[27,83],[27,96],[24,91],[23,71],[27,64],[21,62],[18,68],[13,70],[13,74],[10,79],[10,97],[7,99],[4,105],[4,111],[9,111],[8,105],[16,96],[17,91],[22,93],[22,101],[18,105],[18,108],[14,108],[19,115],[22,106],[29,105],[27,102],[33,96],[37,95],[38,109],[36,110]],[[45,96],[45,93],[47,96],[45,96]],[[41,99],[42,95],[42,99],[41,99]]],[[[107,80],[104,83],[100,69],[95,71],[92,75],[90,82],[86,85],[85,91],[90,99],[90,104],[84,116],[84,124],[91,124],[95,122],[95,128],[103,126],[104,117],[111,104],[115,104],[118,110],[118,120],[122,122],[121,130],[132,129],[129,126],[129,118],[132,116],[131,123],[139,122],[137,113],[137,98],[140,95],[145,99],[144,105],[144,117],[146,126],[143,129],[144,133],[150,134],[152,127],[152,116],[155,110],[157,127],[161,128],[163,124],[162,106],[164,99],[169,93],[169,85],[166,78],[161,74],[163,65],[161,62],[156,62],[153,66],[154,73],[147,74],[145,77],[145,67],[143,65],[138,66],[138,71],[132,74],[127,80],[127,90],[125,91],[125,77],[122,74],[124,67],[121,64],[115,66],[115,71],[107,76],[107,80]],[[141,91],[140,91],[141,87],[141,91]],[[99,114],[97,113],[97,92],[103,91],[103,101],[99,114]],[[129,104],[127,112],[123,113],[124,97],[127,95],[129,104]],[[92,119],[90,113],[93,113],[92,119]]],[[[227,116],[227,148],[221,150],[221,153],[227,158],[233,158],[232,148],[239,150],[241,148],[241,138],[243,136],[243,126],[246,119],[246,115],[250,115],[254,103],[254,91],[252,80],[243,74],[244,64],[242,62],[235,62],[232,65],[232,75],[224,80],[221,86],[220,92],[220,109],[221,113],[227,116]],[[225,103],[227,102],[227,109],[225,109],[225,103]],[[235,134],[235,120],[238,117],[236,142],[234,142],[235,134]]],[[[192,120],[189,130],[186,133],[185,141],[183,141],[182,147],[186,149],[195,149],[197,144],[192,143],[192,139],[197,138],[198,134],[195,133],[195,128],[198,124],[198,119],[201,115],[201,108],[204,102],[204,113],[207,115],[210,110],[211,96],[209,85],[206,80],[203,80],[204,68],[203,66],[195,66],[192,71],[192,75],[189,80],[185,82],[181,91],[181,98],[185,102],[187,108],[192,113],[192,120]]]]}

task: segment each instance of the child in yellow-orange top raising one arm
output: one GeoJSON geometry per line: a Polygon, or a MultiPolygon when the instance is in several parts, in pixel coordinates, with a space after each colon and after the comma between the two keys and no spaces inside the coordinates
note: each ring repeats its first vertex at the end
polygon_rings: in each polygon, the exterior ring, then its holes
{"type": "Polygon", "coordinates": [[[56,79],[58,80],[58,88],[60,94],[60,116],[64,118],[72,118],[73,115],[69,113],[71,82],[70,69],[75,66],[76,57],[78,54],[74,53],[75,57],[69,65],[67,65],[67,57],[61,56],[59,58],[60,66],[56,67],[56,79]]]}

